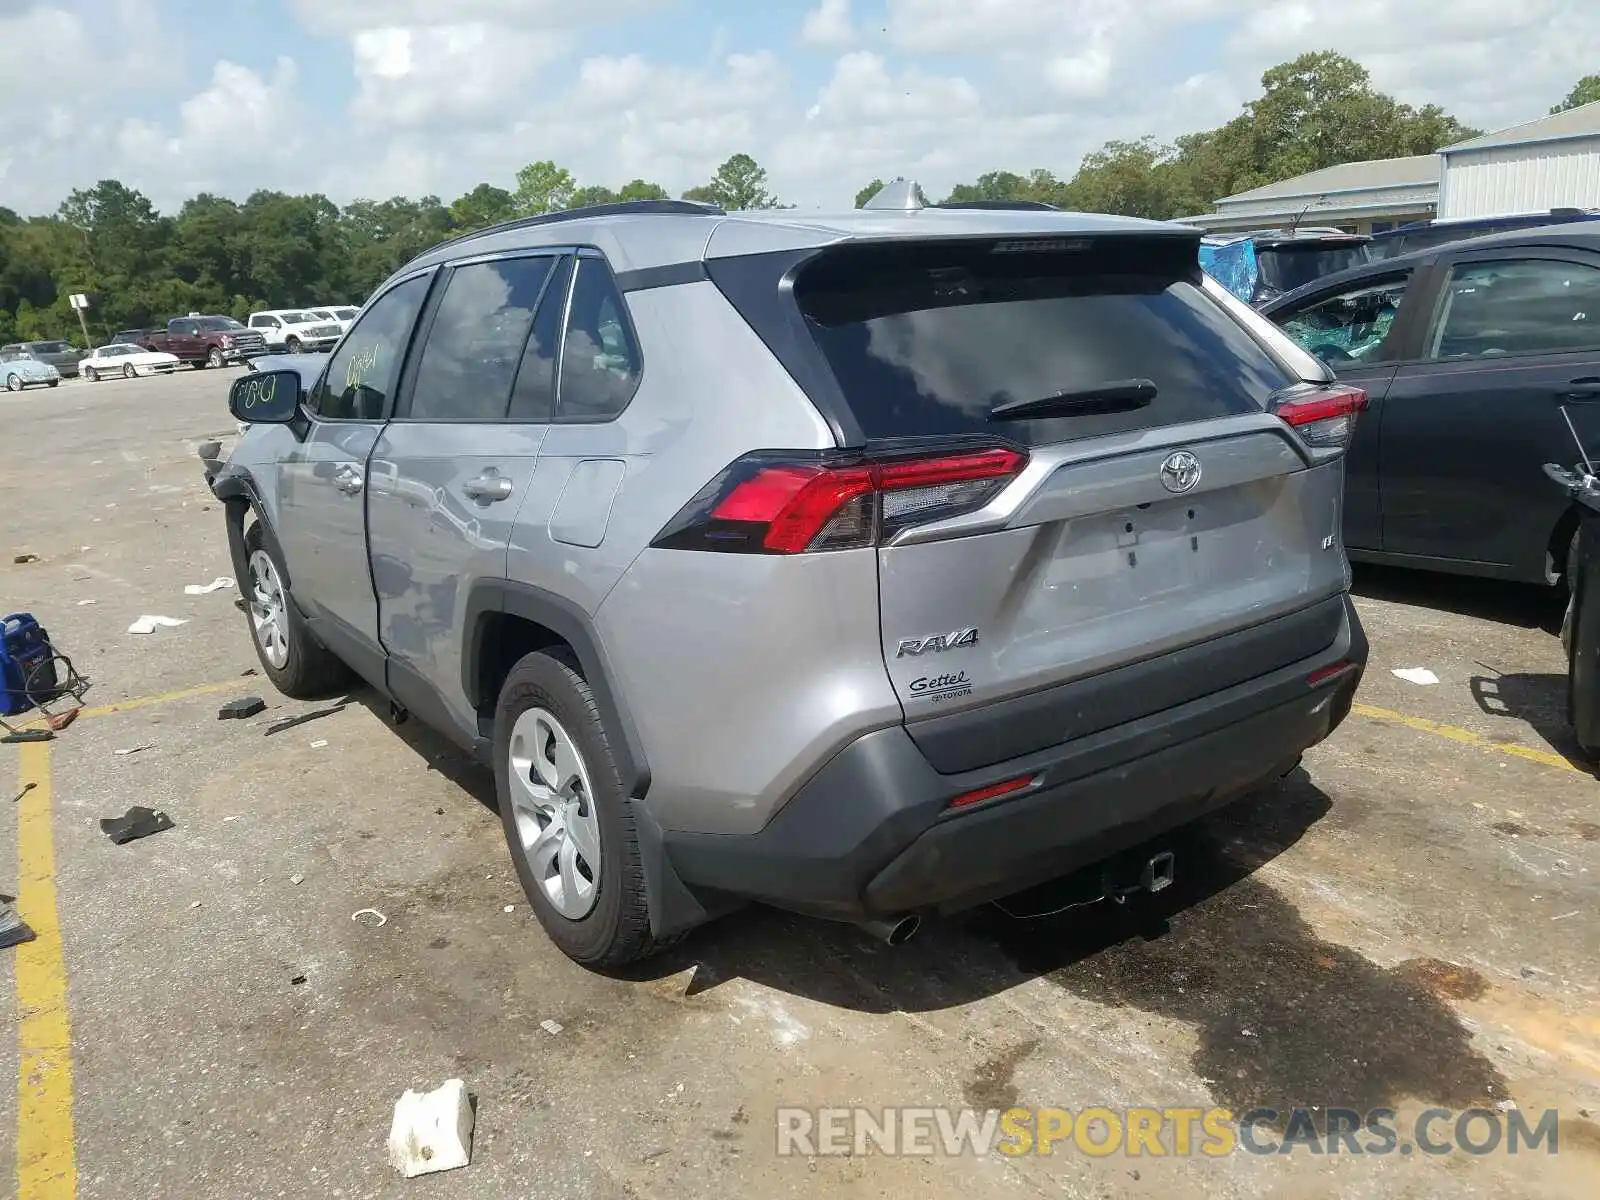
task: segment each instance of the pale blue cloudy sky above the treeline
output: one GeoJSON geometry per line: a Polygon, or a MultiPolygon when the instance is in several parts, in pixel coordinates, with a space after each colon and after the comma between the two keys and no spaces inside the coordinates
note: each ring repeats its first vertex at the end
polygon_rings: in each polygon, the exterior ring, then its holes
{"type": "Polygon", "coordinates": [[[747,152],[832,206],[874,176],[1070,176],[1110,138],[1232,117],[1307,50],[1494,128],[1595,45],[1594,0],[0,0],[0,205],[106,176],[168,210],[450,200],[536,158],[682,190],[747,152]]]}

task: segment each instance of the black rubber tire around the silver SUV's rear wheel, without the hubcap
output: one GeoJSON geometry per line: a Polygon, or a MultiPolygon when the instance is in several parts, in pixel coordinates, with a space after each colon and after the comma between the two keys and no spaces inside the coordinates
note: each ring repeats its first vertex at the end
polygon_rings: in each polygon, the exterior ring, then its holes
{"type": "Polygon", "coordinates": [[[594,693],[578,659],[565,646],[525,656],[501,686],[494,712],[494,792],[517,878],[539,925],[562,954],[584,966],[613,968],[646,958],[675,941],[656,939],[650,933],[650,902],[634,814],[594,693]],[[571,734],[595,792],[590,800],[600,822],[600,883],[594,907],[578,920],[557,912],[533,878],[510,802],[512,726],[533,707],[546,709],[571,734]]]}

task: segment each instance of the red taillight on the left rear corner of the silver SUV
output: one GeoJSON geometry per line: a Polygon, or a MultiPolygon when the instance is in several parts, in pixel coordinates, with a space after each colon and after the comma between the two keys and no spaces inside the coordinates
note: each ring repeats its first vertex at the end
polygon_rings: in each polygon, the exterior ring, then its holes
{"type": "Polygon", "coordinates": [[[1027,466],[1002,446],[915,458],[758,453],[707,483],[653,546],[806,554],[875,546],[909,525],[987,504],[1027,466]]]}

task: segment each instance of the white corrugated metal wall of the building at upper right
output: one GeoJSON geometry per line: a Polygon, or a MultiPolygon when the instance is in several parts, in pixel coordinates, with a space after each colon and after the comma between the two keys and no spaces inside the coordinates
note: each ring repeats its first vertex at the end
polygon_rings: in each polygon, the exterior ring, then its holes
{"type": "Polygon", "coordinates": [[[1462,150],[1445,158],[1440,218],[1600,208],[1600,136],[1462,150]]]}

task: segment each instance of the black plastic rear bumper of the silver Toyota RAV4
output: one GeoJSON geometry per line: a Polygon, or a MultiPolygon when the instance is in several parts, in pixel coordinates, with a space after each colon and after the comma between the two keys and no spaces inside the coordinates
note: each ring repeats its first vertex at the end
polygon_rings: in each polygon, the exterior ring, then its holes
{"type": "Polygon", "coordinates": [[[1098,862],[1293,770],[1349,715],[1366,637],[1349,598],[1331,645],[1157,714],[982,770],[941,774],[904,726],[829,760],[749,837],[664,830],[693,891],[859,920],[958,910],[1098,862]],[[1347,662],[1310,685],[1312,674],[1347,662]],[[952,798],[1030,776],[1026,790],[952,798]]]}

